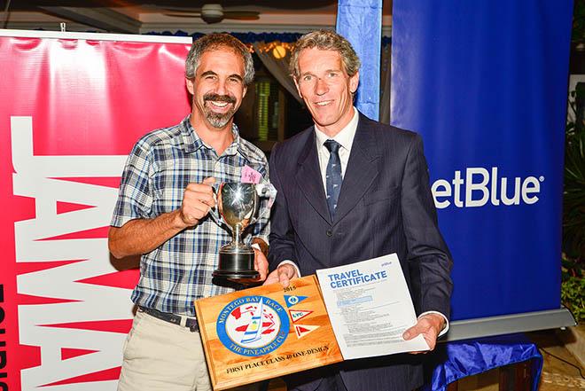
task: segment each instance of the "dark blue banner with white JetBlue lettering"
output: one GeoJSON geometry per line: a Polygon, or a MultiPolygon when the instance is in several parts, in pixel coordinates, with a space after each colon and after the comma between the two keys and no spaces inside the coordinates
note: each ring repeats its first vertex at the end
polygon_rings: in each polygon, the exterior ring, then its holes
{"type": "Polygon", "coordinates": [[[573,2],[394,0],[392,122],[425,140],[454,319],[560,307],[573,2]]]}

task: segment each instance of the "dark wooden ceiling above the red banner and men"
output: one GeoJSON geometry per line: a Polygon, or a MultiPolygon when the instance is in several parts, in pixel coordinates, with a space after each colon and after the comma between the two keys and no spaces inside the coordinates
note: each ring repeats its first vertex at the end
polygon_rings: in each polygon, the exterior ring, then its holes
{"type": "MultiPolygon", "coordinates": [[[[331,0],[9,0],[0,2],[0,6],[1,11],[8,6],[8,12],[3,12],[0,18],[4,28],[58,30],[63,22],[67,31],[126,34],[177,30],[190,34],[211,31],[302,33],[334,27],[337,13],[337,2],[331,0]],[[209,23],[209,18],[202,19],[200,12],[205,4],[221,4],[223,17],[220,14],[215,18],[220,21],[209,23]]],[[[389,35],[391,11],[392,2],[384,1],[385,35],[389,35]]]]}

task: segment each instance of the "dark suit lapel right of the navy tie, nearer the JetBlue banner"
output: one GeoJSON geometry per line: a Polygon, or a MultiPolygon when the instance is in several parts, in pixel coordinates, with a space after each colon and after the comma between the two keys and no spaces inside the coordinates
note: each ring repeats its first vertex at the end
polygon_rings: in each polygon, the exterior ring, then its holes
{"type": "Polygon", "coordinates": [[[363,115],[360,114],[333,223],[339,222],[355,207],[378,176],[376,140],[363,122],[363,115]]]}

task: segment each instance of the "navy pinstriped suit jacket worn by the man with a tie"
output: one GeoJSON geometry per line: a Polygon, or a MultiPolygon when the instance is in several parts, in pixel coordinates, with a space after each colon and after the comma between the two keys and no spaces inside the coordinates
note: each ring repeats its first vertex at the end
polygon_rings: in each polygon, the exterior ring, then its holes
{"type": "MultiPolygon", "coordinates": [[[[421,138],[360,113],[338,206],[329,214],[315,129],[275,145],[269,160],[277,188],[269,236],[270,270],[284,260],[302,275],[398,254],[417,314],[449,316],[451,255],[437,224],[421,138]]],[[[423,355],[394,355],[303,371],[289,387],[315,389],[323,371],[339,371],[349,391],[412,390],[422,385],[423,355]]]]}

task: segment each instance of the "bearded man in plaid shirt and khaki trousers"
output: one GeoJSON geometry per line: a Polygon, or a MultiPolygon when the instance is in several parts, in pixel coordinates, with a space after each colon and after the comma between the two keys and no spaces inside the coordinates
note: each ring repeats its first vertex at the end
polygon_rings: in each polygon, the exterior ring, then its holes
{"type": "MultiPolygon", "coordinates": [[[[246,45],[231,35],[206,35],[193,43],[185,65],[191,114],[138,140],[124,168],[108,236],[116,258],[141,254],[121,391],[211,389],[194,301],[234,289],[212,281],[218,251],[231,237],[210,218],[211,185],[239,182],[245,166],[268,180],[264,153],[239,137],[233,123],[253,80],[246,45]]],[[[268,270],[267,218],[250,231],[261,281],[268,270]]]]}

